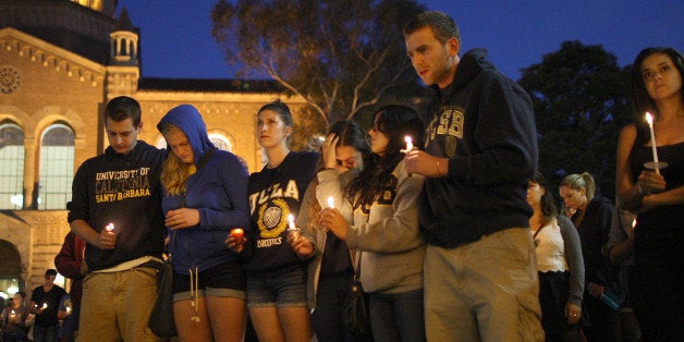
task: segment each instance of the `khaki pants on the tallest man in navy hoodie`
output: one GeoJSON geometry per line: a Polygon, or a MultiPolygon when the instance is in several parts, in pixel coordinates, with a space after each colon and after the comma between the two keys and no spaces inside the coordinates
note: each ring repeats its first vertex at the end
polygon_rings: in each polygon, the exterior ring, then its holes
{"type": "Polygon", "coordinates": [[[529,229],[506,229],[456,248],[428,245],[428,341],[543,341],[529,229]]]}

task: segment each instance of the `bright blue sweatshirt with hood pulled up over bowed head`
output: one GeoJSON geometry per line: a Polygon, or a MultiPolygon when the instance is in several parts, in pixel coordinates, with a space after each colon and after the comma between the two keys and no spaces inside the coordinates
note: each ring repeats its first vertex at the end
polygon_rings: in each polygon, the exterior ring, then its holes
{"type": "Polygon", "coordinates": [[[171,109],[161,118],[157,129],[166,122],[185,133],[197,168],[186,181],[184,196],[169,195],[167,188],[162,190],[161,208],[164,215],[181,207],[199,210],[199,224],[170,232],[173,270],[188,274],[191,268],[204,271],[228,260],[236,260],[236,255],[225,246],[225,239],[233,228],[249,228],[247,170],[235,155],[218,150],[211,144],[195,107],[181,105],[171,109]]]}

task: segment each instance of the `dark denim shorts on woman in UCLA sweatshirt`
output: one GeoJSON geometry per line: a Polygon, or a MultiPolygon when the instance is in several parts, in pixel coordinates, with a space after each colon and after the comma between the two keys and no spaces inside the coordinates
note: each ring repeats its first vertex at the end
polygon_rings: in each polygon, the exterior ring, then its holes
{"type": "Polygon", "coordinates": [[[247,276],[247,307],[306,307],[307,305],[306,268],[302,266],[286,272],[247,276]]]}

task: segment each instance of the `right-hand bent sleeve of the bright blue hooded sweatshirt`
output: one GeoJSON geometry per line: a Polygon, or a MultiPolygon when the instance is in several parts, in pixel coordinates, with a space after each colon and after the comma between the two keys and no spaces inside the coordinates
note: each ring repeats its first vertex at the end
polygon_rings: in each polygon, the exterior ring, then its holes
{"type": "Polygon", "coordinates": [[[249,227],[249,203],[247,197],[247,170],[236,157],[224,158],[220,163],[219,183],[230,201],[229,210],[199,208],[199,228],[225,230],[249,227]]]}

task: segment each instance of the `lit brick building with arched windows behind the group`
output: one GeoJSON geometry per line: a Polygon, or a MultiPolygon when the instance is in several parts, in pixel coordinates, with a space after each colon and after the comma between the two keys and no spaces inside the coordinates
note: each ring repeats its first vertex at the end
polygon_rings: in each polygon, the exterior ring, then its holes
{"type": "MultiPolygon", "coordinates": [[[[69,231],[71,180],[107,147],[102,111],[120,95],[136,98],[138,137],[164,142],[156,130],[171,108],[199,109],[210,138],[261,166],[256,111],[276,98],[295,117],[305,103],[273,82],[145,78],[139,29],[115,0],[0,0],[0,291],[30,290],[69,231]]],[[[295,118],[297,120],[297,118],[295,118]]],[[[69,283],[66,282],[66,288],[69,283]]]]}

